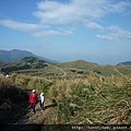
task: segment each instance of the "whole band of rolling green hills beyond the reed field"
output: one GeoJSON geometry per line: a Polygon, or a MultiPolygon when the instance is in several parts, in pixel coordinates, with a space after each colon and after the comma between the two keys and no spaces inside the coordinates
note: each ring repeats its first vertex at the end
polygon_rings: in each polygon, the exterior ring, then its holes
{"type": "Polygon", "coordinates": [[[86,76],[94,72],[104,76],[111,75],[129,75],[131,76],[131,66],[99,66],[97,63],[76,60],[63,62],[59,64],[49,63],[47,61],[26,57],[17,62],[12,62],[1,68],[1,72],[5,73],[23,73],[39,76],[86,76]]]}

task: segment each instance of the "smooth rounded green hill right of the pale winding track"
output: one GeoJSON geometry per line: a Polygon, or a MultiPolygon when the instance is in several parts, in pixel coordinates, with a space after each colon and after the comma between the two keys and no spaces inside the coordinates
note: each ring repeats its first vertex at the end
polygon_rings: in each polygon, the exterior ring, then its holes
{"type": "Polygon", "coordinates": [[[97,63],[92,63],[83,60],[71,61],[66,63],[58,64],[59,68],[62,68],[69,74],[83,74],[86,75],[91,72],[95,72],[97,74],[104,76],[111,75],[131,75],[131,67],[122,67],[122,66],[99,66],[97,63]]]}

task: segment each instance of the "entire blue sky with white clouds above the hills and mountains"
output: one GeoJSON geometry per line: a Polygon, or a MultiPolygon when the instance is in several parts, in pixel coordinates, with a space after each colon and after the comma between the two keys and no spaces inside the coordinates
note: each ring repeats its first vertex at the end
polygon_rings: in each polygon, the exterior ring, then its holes
{"type": "Polygon", "coordinates": [[[131,0],[0,0],[0,49],[61,62],[131,61],[131,0]]]}

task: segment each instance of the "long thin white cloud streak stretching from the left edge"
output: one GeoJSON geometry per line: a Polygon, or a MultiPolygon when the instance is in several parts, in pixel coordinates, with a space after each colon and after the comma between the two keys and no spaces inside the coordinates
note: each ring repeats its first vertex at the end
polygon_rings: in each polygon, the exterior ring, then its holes
{"type": "Polygon", "coordinates": [[[0,24],[12,29],[29,33],[35,37],[47,37],[52,35],[70,35],[73,34],[72,29],[50,29],[50,26],[44,24],[27,24],[12,20],[0,20],[0,24]]]}

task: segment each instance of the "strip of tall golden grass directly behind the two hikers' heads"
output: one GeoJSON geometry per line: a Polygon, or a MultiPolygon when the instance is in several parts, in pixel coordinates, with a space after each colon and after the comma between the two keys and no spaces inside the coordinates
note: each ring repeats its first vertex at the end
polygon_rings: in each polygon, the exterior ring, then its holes
{"type": "Polygon", "coordinates": [[[25,90],[36,90],[36,93],[40,94],[41,92],[47,93],[48,88],[53,85],[53,81],[50,81],[46,78],[39,76],[29,76],[24,74],[13,73],[10,76],[12,82],[15,85],[21,86],[25,90]]]}

